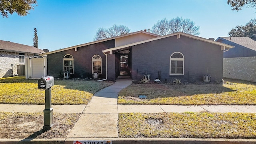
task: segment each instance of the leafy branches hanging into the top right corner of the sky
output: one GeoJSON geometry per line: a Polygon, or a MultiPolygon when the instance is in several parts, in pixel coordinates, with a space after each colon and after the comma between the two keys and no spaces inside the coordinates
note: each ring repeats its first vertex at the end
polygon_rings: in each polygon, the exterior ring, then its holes
{"type": "Polygon", "coordinates": [[[247,7],[256,8],[256,0],[228,0],[228,5],[231,5],[232,10],[242,10],[242,8],[247,5],[247,7]]]}

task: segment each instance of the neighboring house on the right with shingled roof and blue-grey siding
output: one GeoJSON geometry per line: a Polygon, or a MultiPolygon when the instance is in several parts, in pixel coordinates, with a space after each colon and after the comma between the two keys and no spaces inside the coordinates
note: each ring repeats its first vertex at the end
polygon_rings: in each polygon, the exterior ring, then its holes
{"type": "Polygon", "coordinates": [[[234,46],[224,51],[223,77],[256,82],[256,34],[219,37],[216,41],[234,46]]]}

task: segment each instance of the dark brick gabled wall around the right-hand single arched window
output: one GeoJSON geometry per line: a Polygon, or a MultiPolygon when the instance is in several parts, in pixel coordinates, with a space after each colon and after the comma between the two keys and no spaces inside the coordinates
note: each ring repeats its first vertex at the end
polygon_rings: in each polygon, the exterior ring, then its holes
{"type": "Polygon", "coordinates": [[[189,81],[203,81],[203,75],[210,74],[212,82],[222,80],[223,51],[220,46],[185,36],[163,38],[132,46],[132,79],[140,80],[143,74],[151,80],[161,81],[179,78],[189,81]],[[174,52],[184,55],[184,75],[170,75],[170,56],[174,52]],[[138,73],[137,73],[138,72],[138,73]]]}

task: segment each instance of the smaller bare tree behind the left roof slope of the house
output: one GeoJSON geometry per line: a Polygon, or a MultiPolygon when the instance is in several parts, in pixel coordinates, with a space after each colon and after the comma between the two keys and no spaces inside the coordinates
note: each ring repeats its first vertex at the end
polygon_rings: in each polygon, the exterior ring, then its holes
{"type": "Polygon", "coordinates": [[[130,29],[124,25],[117,26],[116,24],[110,28],[99,28],[96,32],[94,40],[103,40],[106,38],[112,38],[114,36],[121,36],[123,34],[128,34],[130,29]]]}

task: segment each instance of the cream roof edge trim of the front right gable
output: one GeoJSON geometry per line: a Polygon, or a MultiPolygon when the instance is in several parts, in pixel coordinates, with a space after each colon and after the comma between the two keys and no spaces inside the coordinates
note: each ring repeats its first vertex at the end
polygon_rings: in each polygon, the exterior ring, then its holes
{"type": "Polygon", "coordinates": [[[186,36],[188,38],[193,38],[193,39],[196,39],[196,40],[208,42],[208,43],[211,43],[211,44],[219,45],[219,46],[221,46],[221,50],[225,50],[226,48],[233,48],[233,46],[230,46],[228,44],[223,44],[221,42],[216,42],[214,40],[209,40],[209,39],[206,39],[206,38],[201,38],[199,36],[194,36],[194,35],[186,34],[186,33],[183,33],[183,32],[176,32],[176,33],[168,34],[168,35],[165,35],[165,36],[159,36],[157,38],[151,38],[151,39],[148,39],[148,40],[143,40],[143,41],[140,41],[140,42],[135,42],[135,43],[132,43],[132,44],[127,44],[125,46],[118,46],[118,47],[115,47],[115,48],[108,48],[106,50],[102,50],[102,52],[110,52],[112,50],[118,50],[118,49],[130,47],[130,46],[134,46],[134,45],[137,45],[137,44],[142,44],[142,43],[145,43],[145,42],[150,42],[150,41],[153,41],[153,40],[159,40],[159,39],[162,39],[162,38],[167,38],[167,37],[170,37],[170,36],[177,36],[177,39],[178,39],[178,38],[180,38],[180,35],[186,36]]]}

